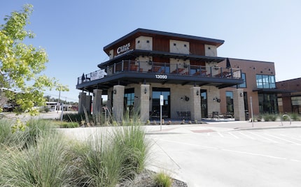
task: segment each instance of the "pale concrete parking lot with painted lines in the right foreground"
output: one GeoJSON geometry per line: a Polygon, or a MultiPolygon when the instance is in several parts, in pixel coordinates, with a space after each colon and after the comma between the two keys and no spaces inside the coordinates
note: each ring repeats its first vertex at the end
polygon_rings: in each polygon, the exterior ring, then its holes
{"type": "Polygon", "coordinates": [[[244,125],[148,127],[149,167],[188,186],[300,186],[301,128],[244,125]]]}

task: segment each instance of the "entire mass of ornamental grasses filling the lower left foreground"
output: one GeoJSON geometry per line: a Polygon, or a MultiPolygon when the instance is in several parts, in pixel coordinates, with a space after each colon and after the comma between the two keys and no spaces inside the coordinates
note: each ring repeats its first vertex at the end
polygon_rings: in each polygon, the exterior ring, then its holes
{"type": "Polygon", "coordinates": [[[144,170],[149,144],[137,121],[68,141],[49,120],[0,121],[0,186],[116,186],[144,170]]]}

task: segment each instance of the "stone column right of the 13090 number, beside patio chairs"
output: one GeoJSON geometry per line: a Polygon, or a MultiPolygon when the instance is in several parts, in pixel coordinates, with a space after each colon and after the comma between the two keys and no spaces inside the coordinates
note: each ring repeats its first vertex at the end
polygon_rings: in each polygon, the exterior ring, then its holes
{"type": "Polygon", "coordinates": [[[201,121],[202,120],[202,112],[201,112],[201,96],[200,96],[200,87],[191,87],[190,88],[190,112],[191,119],[201,121]]]}

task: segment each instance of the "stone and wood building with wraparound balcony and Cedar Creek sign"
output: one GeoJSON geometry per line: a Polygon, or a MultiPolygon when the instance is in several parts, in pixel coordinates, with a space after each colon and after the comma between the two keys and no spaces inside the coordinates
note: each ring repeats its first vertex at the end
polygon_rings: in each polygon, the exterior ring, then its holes
{"type": "Polygon", "coordinates": [[[100,63],[100,70],[78,77],[76,88],[83,91],[78,112],[90,112],[91,103],[93,112],[102,110],[104,94],[117,120],[126,111],[136,111],[146,121],[159,117],[162,95],[163,118],[200,120],[222,111],[221,89],[231,87],[235,119],[244,120],[243,89],[236,89],[244,84],[241,68],[218,57],[217,49],[223,43],[136,29],[104,47],[109,61],[100,63]]]}

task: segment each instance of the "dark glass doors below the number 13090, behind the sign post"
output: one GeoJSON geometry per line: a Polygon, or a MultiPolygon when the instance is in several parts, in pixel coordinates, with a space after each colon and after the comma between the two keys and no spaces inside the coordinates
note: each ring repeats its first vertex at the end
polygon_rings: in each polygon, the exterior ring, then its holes
{"type": "Polygon", "coordinates": [[[151,118],[160,118],[160,95],[163,95],[162,118],[170,118],[169,88],[153,88],[151,118]]]}

